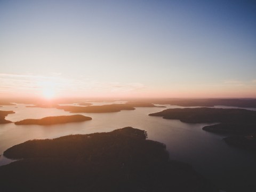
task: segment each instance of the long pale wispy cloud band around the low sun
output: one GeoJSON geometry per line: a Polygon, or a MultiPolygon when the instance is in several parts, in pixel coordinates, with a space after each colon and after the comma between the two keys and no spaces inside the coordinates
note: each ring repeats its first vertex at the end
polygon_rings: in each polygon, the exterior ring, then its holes
{"type": "Polygon", "coordinates": [[[63,78],[59,73],[53,73],[51,76],[0,74],[0,92],[2,93],[40,95],[45,89],[55,90],[59,95],[91,96],[110,93],[125,94],[146,89],[146,86],[137,82],[101,82],[83,77],[63,78]]]}

